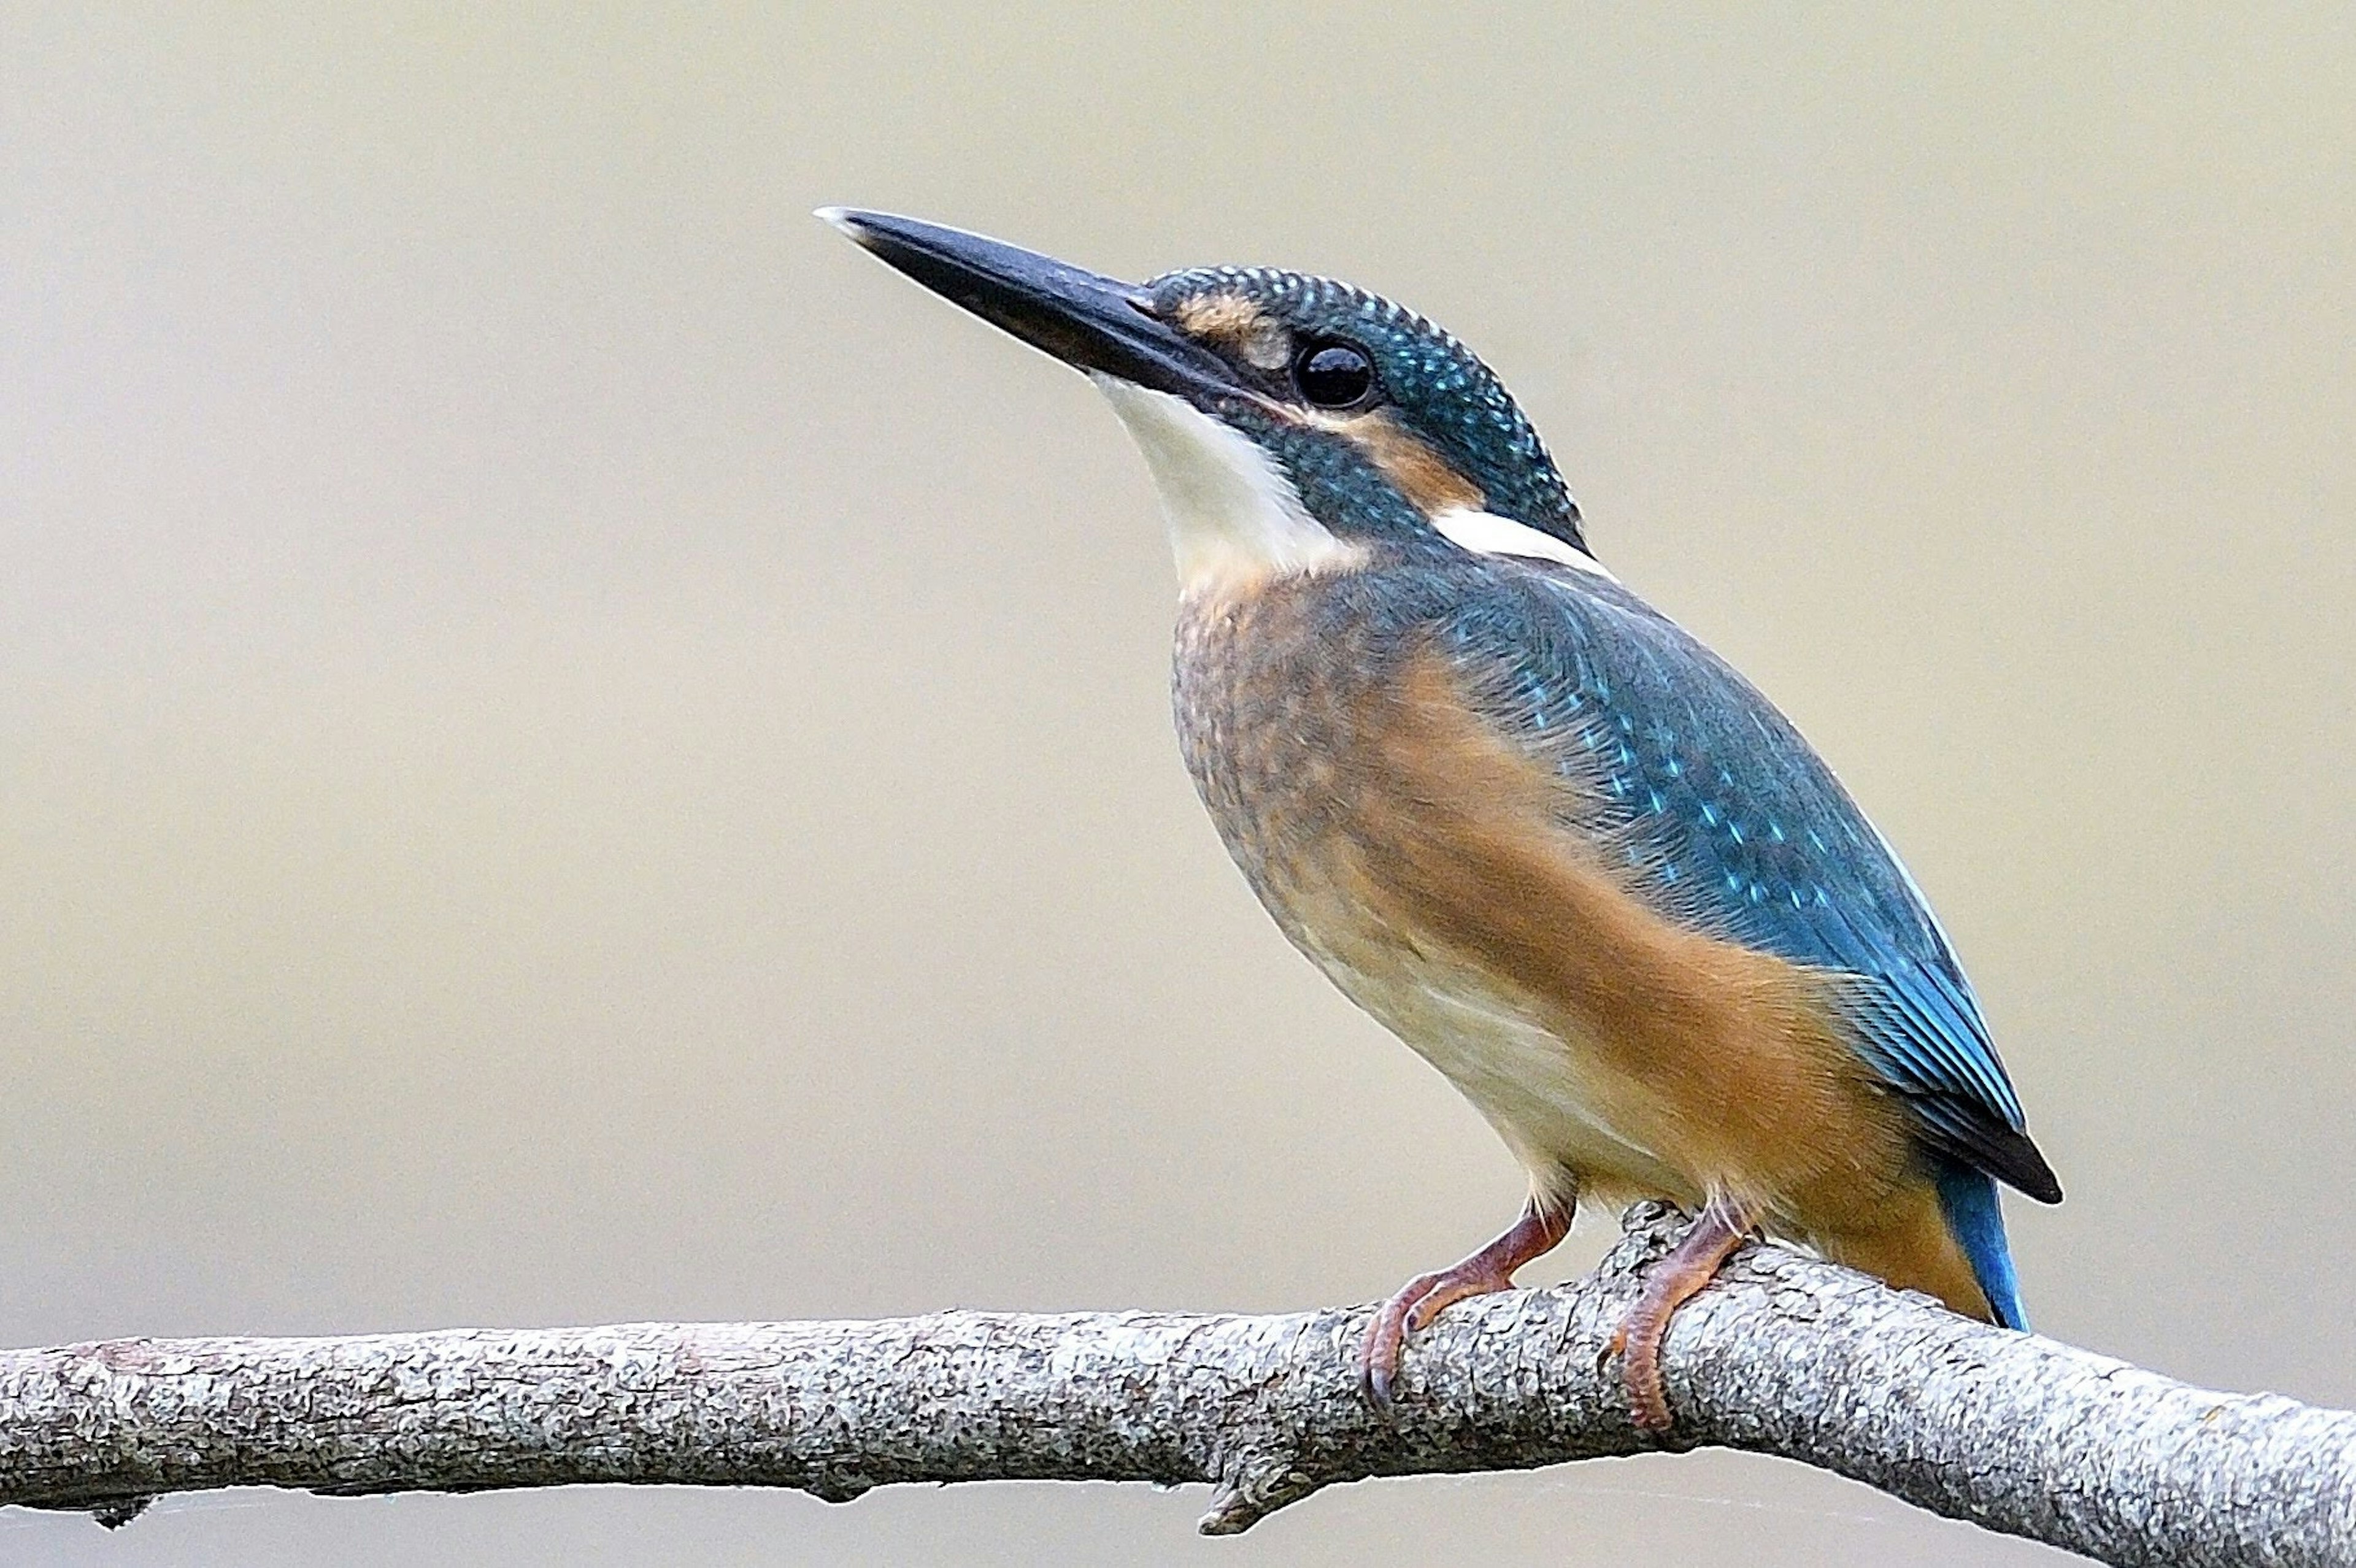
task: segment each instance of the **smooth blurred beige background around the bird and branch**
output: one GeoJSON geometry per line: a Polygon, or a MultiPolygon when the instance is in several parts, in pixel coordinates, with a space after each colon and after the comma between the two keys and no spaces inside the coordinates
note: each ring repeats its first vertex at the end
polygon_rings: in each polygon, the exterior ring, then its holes
{"type": "MultiPolygon", "coordinates": [[[[1946,918],[2040,1328],[2356,1403],[2351,73],[2340,5],[9,7],[0,1342],[1291,1309],[1513,1215],[1197,808],[1112,414],[855,202],[1465,337],[1946,918]]],[[[0,1561],[2059,1561],[1739,1455],[1202,1507],[0,1561]]]]}

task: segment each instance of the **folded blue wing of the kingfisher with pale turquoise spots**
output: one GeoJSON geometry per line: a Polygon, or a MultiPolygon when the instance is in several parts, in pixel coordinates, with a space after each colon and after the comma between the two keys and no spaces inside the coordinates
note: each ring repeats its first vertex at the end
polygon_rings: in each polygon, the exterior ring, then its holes
{"type": "Polygon", "coordinates": [[[2057,1203],[1946,935],[1791,720],[1602,577],[1482,567],[1437,614],[1458,673],[1501,730],[1602,789],[1607,841],[1659,906],[1852,977],[1857,1048],[1922,1142],[2057,1203]]]}

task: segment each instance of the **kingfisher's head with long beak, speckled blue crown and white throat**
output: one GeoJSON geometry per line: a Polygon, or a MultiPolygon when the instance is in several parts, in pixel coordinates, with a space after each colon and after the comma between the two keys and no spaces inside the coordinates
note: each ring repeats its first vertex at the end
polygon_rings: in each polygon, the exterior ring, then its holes
{"type": "Polygon", "coordinates": [[[1505,386],[1388,299],[1260,266],[1119,283],[916,219],[820,217],[1086,372],[1145,452],[1190,586],[1374,551],[1593,567],[1579,506],[1505,386]]]}

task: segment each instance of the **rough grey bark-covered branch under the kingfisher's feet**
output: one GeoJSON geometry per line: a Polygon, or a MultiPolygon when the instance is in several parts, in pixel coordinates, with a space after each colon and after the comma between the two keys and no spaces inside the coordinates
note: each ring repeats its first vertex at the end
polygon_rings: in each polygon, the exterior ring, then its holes
{"type": "MultiPolygon", "coordinates": [[[[584,1481],[1206,1481],[1206,1533],[1336,1481],[1656,1448],[1604,1344],[1677,1234],[1642,1205],[1583,1281],[1449,1309],[1392,1420],[1369,1309],[945,1311],[0,1351],[0,1502],[120,1523],[158,1493],[358,1495],[584,1481]]],[[[1783,1248],[1668,1333],[1677,1446],[1772,1453],[2109,1563],[2356,1563],[2356,1415],[2208,1394],[1783,1248]]]]}

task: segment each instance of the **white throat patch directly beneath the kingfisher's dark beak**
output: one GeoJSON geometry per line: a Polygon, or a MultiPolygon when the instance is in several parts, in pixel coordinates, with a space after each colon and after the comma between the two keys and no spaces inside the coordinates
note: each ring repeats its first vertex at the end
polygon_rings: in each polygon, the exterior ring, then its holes
{"type": "Polygon", "coordinates": [[[1185,398],[1107,374],[1088,379],[1145,452],[1185,589],[1315,572],[1357,558],[1355,546],[1308,513],[1293,483],[1249,436],[1185,398]]]}

